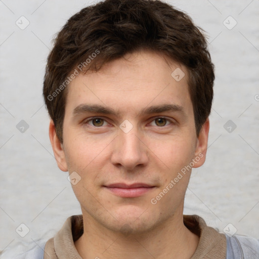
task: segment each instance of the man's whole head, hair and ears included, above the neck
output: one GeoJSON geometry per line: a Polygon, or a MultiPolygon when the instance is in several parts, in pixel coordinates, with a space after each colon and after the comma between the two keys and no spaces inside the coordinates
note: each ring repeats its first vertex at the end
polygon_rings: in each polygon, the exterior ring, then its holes
{"type": "Polygon", "coordinates": [[[107,0],[67,21],[44,97],[54,154],[80,179],[72,187],[83,214],[144,231],[182,211],[191,168],[205,160],[213,80],[201,29],[168,4],[107,0]],[[152,188],[121,197],[114,183],[152,188]]]}

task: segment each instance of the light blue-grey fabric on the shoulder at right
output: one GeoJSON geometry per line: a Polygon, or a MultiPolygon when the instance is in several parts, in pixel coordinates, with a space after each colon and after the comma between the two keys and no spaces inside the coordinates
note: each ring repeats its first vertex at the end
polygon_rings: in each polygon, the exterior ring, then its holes
{"type": "Polygon", "coordinates": [[[259,240],[241,235],[228,236],[227,238],[227,259],[258,259],[259,240]]]}

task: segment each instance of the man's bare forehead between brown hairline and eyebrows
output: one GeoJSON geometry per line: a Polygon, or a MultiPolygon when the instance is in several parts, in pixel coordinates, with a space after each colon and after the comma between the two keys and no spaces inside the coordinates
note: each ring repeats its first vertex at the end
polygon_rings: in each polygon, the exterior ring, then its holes
{"type": "Polygon", "coordinates": [[[66,113],[81,104],[128,113],[164,103],[192,110],[188,71],[159,53],[141,51],[107,63],[98,72],[79,74],[69,84],[66,113]]]}

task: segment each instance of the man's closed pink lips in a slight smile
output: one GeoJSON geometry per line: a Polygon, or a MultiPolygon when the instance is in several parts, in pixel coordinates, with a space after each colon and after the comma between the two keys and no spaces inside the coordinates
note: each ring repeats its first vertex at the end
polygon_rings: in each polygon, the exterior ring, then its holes
{"type": "Polygon", "coordinates": [[[155,186],[151,186],[144,183],[115,183],[103,187],[106,188],[108,191],[112,192],[113,194],[123,198],[139,197],[155,188],[155,186]]]}

